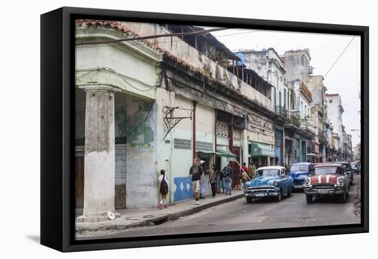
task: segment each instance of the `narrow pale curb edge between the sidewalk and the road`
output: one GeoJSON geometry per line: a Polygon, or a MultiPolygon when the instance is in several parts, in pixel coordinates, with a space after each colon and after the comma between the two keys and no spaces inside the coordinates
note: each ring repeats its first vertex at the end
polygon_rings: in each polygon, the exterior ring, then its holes
{"type": "Polygon", "coordinates": [[[201,210],[217,206],[219,204],[224,204],[229,201],[234,201],[244,197],[244,193],[233,195],[225,199],[220,199],[219,201],[212,201],[208,204],[202,204],[199,206],[192,206],[190,208],[183,208],[178,212],[171,212],[167,214],[162,214],[151,219],[142,219],[142,220],[128,220],[128,219],[115,219],[114,221],[108,221],[107,223],[77,223],[75,227],[76,234],[80,235],[81,232],[96,232],[104,230],[126,230],[132,227],[143,227],[146,225],[159,225],[165,221],[174,221],[180,217],[185,217],[201,210]],[[126,223],[125,221],[133,221],[126,223]]]}

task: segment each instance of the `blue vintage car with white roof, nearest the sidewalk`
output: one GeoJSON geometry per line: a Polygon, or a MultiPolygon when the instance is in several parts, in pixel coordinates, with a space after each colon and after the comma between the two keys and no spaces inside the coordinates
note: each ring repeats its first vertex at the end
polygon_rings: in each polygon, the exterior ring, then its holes
{"type": "Polygon", "coordinates": [[[275,197],[280,201],[282,196],[290,196],[292,192],[293,178],[285,167],[260,167],[254,179],[245,183],[244,196],[247,203],[257,197],[275,197]]]}

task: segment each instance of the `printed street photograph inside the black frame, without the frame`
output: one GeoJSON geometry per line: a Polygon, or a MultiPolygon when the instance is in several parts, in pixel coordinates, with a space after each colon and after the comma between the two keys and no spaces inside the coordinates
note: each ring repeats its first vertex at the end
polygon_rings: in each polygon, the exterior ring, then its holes
{"type": "Polygon", "coordinates": [[[77,240],[361,222],[358,36],[75,25],[77,240]]]}

